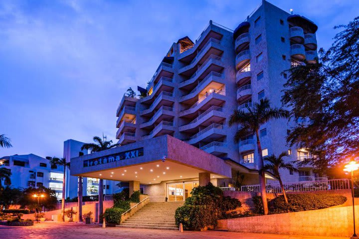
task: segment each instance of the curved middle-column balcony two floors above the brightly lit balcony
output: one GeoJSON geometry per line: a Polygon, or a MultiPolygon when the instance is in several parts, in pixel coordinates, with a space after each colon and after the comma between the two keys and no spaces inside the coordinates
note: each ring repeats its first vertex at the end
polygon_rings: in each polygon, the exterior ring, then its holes
{"type": "Polygon", "coordinates": [[[197,71],[191,76],[190,79],[179,83],[180,89],[193,89],[194,85],[198,83],[198,79],[209,75],[210,72],[218,72],[224,68],[223,58],[211,55],[207,60],[198,67],[197,71]]]}

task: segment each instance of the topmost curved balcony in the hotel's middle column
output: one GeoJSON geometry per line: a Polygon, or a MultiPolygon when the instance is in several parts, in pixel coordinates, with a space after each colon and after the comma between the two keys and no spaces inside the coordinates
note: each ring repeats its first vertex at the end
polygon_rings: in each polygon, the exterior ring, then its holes
{"type": "Polygon", "coordinates": [[[223,53],[223,47],[220,45],[220,40],[211,38],[203,46],[203,48],[200,51],[198,51],[197,55],[193,58],[192,62],[189,63],[189,65],[179,69],[179,74],[184,74],[187,71],[196,67],[198,64],[201,64],[201,61],[203,60],[204,56],[220,55],[222,53],[223,53]]]}

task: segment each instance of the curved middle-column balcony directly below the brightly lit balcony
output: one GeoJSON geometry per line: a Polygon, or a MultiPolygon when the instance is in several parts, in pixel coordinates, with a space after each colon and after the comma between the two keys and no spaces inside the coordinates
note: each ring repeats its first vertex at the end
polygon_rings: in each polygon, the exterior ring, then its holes
{"type": "Polygon", "coordinates": [[[187,131],[198,127],[199,125],[209,125],[226,119],[227,116],[223,113],[223,108],[212,106],[197,118],[193,119],[189,123],[179,127],[179,131],[187,131]]]}

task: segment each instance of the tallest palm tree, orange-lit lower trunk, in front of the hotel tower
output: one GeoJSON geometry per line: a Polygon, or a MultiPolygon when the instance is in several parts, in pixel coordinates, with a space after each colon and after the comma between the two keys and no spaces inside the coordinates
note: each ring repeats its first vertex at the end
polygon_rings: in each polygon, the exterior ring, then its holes
{"type": "Polygon", "coordinates": [[[265,188],[265,177],[263,170],[263,156],[262,146],[259,139],[260,127],[271,119],[288,118],[289,113],[282,108],[271,107],[267,98],[260,100],[260,103],[254,103],[253,107],[246,107],[248,112],[243,110],[234,110],[233,114],[229,117],[229,126],[233,124],[239,124],[239,129],[234,135],[234,140],[238,142],[240,139],[249,136],[256,135],[257,150],[258,150],[258,174],[259,185],[261,190],[261,197],[263,203],[264,215],[268,214],[267,194],[265,188]]]}

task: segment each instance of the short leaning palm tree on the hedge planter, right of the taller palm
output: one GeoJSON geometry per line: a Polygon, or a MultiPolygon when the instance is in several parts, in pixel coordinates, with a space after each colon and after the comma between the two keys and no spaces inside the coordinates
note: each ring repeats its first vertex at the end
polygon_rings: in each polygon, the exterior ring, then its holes
{"type": "Polygon", "coordinates": [[[282,188],[284,200],[288,204],[287,195],[284,190],[283,182],[282,182],[282,179],[279,174],[279,169],[286,169],[286,170],[289,170],[290,172],[296,172],[296,173],[298,172],[298,169],[296,169],[293,166],[293,164],[286,163],[284,161],[283,158],[287,157],[287,156],[288,156],[287,152],[282,152],[281,154],[279,154],[278,157],[276,157],[274,154],[264,157],[263,160],[268,161],[269,163],[264,165],[263,170],[268,170],[268,171],[272,172],[274,174],[274,176],[276,178],[278,178],[279,184],[281,185],[281,188],[282,188]]]}

